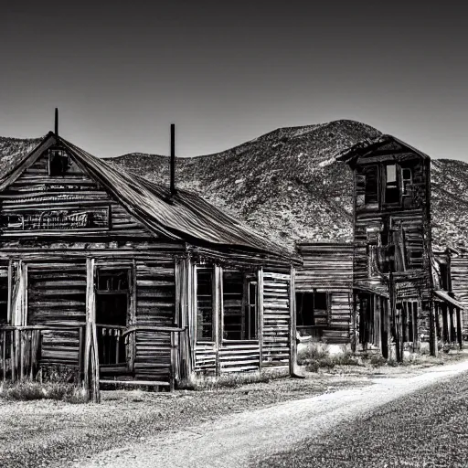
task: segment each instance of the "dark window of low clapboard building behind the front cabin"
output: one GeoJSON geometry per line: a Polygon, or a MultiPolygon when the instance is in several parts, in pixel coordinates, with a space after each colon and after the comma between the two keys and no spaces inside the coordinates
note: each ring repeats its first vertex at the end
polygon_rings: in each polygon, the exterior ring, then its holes
{"type": "Polygon", "coordinates": [[[328,324],[327,293],[296,293],[296,327],[307,328],[328,324]]]}

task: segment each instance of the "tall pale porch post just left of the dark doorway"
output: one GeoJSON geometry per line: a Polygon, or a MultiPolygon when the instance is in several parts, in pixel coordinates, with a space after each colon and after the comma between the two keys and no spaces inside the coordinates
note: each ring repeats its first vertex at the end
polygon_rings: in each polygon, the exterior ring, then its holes
{"type": "Polygon", "coordinates": [[[86,260],[86,342],[84,346],[84,390],[91,401],[99,403],[99,354],[96,332],[96,293],[94,259],[86,260]]]}

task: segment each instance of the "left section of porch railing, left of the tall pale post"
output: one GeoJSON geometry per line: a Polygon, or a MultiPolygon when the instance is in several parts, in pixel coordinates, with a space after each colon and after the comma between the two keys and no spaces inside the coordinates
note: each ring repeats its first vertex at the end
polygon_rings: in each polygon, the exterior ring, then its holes
{"type": "MultiPolygon", "coordinates": [[[[49,338],[50,339],[50,338],[49,338]]],[[[78,325],[1,325],[0,326],[0,377],[8,380],[34,379],[41,364],[47,361],[48,365],[69,365],[76,367],[77,372],[82,371],[82,349],[84,343],[84,324],[78,325]],[[44,335],[54,333],[76,332],[77,346],[71,352],[64,352],[60,338],[49,342],[50,346],[56,346],[55,356],[47,358],[43,356],[44,335]]]]}

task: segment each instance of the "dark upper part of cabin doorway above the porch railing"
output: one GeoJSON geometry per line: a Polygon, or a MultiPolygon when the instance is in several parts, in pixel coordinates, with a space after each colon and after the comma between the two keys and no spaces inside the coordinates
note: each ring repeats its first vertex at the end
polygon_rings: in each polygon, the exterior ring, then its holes
{"type": "Polygon", "coordinates": [[[127,324],[129,273],[127,270],[98,270],[96,290],[96,322],[127,324]]]}

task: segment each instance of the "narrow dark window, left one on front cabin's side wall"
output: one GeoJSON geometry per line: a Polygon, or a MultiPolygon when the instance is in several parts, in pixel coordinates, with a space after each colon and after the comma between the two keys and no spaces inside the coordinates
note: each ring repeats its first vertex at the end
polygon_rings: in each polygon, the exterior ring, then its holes
{"type": "Polygon", "coordinates": [[[214,340],[213,271],[197,269],[197,340],[214,340]]]}

